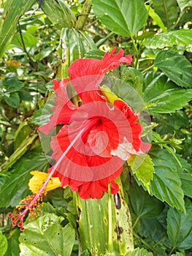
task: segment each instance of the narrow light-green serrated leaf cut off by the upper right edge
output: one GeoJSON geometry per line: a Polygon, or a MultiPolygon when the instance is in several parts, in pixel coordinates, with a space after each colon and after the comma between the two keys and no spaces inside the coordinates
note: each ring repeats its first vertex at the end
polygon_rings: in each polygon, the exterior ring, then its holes
{"type": "Polygon", "coordinates": [[[167,33],[157,34],[155,37],[147,38],[144,45],[147,48],[166,48],[174,45],[185,45],[185,47],[191,45],[192,30],[191,29],[179,29],[170,31],[167,33]]]}

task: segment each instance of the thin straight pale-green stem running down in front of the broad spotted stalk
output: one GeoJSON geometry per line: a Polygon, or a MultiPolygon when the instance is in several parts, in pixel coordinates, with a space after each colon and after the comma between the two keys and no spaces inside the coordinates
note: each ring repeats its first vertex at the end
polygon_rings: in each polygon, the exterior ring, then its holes
{"type": "Polygon", "coordinates": [[[111,194],[111,184],[108,184],[108,211],[109,211],[109,236],[108,236],[108,252],[113,252],[112,243],[112,194],[111,194]]]}

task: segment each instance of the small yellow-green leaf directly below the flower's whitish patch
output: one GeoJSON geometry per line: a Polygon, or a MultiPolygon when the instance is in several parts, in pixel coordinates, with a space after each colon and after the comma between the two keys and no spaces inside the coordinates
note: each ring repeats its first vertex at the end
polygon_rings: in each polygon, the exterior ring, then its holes
{"type": "Polygon", "coordinates": [[[127,162],[138,180],[142,181],[142,184],[150,192],[150,181],[153,180],[153,173],[155,173],[151,158],[147,154],[132,155],[127,162]]]}

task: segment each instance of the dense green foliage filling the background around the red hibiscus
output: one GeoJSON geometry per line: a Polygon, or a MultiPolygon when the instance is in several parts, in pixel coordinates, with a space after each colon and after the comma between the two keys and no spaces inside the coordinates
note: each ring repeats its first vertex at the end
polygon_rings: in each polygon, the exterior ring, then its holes
{"type": "MultiPolygon", "coordinates": [[[[49,120],[43,109],[53,78],[66,78],[74,60],[101,59],[114,46],[134,61],[109,72],[126,82],[110,89],[150,115],[143,136],[152,148],[137,169],[132,159],[123,167],[136,249],[121,253],[114,242],[113,255],[191,255],[192,1],[1,0],[0,11],[0,256],[112,255],[97,223],[108,217],[107,194],[82,200],[69,187],[53,189],[23,232],[7,214],[30,195],[31,171],[50,167],[37,127],[49,120]]],[[[120,218],[126,227],[128,217],[120,218]]],[[[120,236],[115,226],[114,234],[120,236]]]]}

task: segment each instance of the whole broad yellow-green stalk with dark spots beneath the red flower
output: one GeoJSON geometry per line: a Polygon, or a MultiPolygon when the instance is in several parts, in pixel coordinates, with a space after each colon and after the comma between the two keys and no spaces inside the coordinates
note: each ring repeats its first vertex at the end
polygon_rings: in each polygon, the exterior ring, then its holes
{"type": "Polygon", "coordinates": [[[117,194],[104,193],[101,199],[83,200],[75,194],[78,235],[82,250],[91,255],[125,255],[134,249],[131,216],[123,195],[120,178],[117,194]]]}

